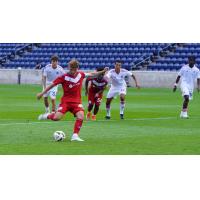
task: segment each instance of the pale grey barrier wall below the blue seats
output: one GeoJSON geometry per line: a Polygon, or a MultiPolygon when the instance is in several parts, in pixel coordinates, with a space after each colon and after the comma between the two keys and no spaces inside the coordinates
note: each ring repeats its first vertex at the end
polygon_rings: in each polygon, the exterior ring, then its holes
{"type": "MultiPolygon", "coordinates": [[[[173,71],[134,71],[133,73],[141,87],[151,88],[172,87],[177,76],[177,72],[173,71]]],[[[41,84],[41,76],[41,70],[0,69],[0,84],[18,84],[19,78],[21,84],[41,84]]],[[[130,85],[135,86],[132,78],[130,85]]]]}

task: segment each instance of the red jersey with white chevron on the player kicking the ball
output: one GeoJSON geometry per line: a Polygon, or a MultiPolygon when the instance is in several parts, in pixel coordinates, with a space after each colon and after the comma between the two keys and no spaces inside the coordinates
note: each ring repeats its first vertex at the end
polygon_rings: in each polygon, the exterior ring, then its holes
{"type": "Polygon", "coordinates": [[[84,78],[85,73],[79,71],[75,75],[64,74],[53,81],[55,86],[58,84],[62,85],[64,92],[61,99],[62,103],[81,104],[81,89],[84,78]]]}

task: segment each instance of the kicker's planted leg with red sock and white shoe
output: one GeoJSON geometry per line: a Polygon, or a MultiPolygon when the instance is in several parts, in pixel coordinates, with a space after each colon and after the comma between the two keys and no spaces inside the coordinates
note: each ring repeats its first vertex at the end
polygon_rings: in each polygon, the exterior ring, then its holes
{"type": "MultiPolygon", "coordinates": [[[[80,104],[79,104],[80,105],[80,104]]],[[[79,137],[79,132],[80,132],[80,129],[82,127],[82,124],[83,124],[83,119],[84,119],[84,110],[83,108],[74,108],[72,109],[72,112],[75,113],[74,115],[76,116],[76,122],[74,124],[74,133],[72,135],[72,138],[71,138],[71,141],[79,141],[79,142],[82,142],[84,140],[82,140],[80,137],[79,137]],[[76,112],[76,110],[79,110],[78,112],[76,112]]]]}

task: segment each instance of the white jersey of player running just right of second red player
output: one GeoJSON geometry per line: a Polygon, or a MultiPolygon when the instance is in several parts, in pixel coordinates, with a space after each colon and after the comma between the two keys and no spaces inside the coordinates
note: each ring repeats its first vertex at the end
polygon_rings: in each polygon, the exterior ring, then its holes
{"type": "Polygon", "coordinates": [[[106,78],[111,81],[111,87],[126,87],[126,76],[132,76],[132,73],[126,69],[120,69],[119,74],[115,72],[115,69],[111,69],[106,74],[106,78]]]}

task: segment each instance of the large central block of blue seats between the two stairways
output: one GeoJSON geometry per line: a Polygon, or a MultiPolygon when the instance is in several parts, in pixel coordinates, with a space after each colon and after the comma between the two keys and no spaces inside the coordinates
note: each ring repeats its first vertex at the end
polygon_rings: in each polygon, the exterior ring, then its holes
{"type": "Polygon", "coordinates": [[[131,69],[135,60],[142,60],[143,55],[150,56],[153,51],[159,50],[164,45],[166,44],[138,43],[136,46],[131,43],[42,44],[41,48],[34,49],[31,53],[26,53],[21,58],[18,58],[17,61],[7,63],[6,67],[13,68],[15,64],[16,67],[21,64],[21,67],[34,68],[37,62],[42,63],[44,66],[49,63],[52,54],[58,54],[62,66],[66,66],[67,62],[72,58],[76,58],[81,63],[82,68],[112,67],[117,59],[121,59],[124,61],[124,67],[131,69]],[[78,46],[80,47],[78,48],[78,46]]]}

